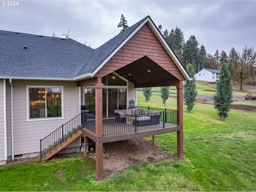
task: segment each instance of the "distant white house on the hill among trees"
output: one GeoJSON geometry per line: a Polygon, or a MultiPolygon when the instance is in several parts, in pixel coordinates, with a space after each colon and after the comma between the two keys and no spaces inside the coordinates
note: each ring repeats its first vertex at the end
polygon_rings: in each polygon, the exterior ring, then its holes
{"type": "Polygon", "coordinates": [[[216,82],[219,80],[220,70],[202,69],[195,75],[196,81],[216,82]]]}

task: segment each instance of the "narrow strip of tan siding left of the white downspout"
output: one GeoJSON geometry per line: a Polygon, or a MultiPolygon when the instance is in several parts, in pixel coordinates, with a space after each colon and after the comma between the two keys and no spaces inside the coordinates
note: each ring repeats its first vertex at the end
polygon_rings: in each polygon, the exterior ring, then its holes
{"type": "Polygon", "coordinates": [[[0,161],[4,161],[4,94],[3,79],[0,79],[0,161]]]}

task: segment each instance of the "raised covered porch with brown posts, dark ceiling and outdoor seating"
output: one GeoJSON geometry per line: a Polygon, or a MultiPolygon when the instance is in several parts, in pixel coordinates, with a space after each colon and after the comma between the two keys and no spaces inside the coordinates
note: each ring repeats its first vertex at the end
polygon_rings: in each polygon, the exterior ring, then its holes
{"type": "MultiPolygon", "coordinates": [[[[183,158],[183,85],[182,80],[175,77],[170,70],[158,65],[147,56],[129,63],[117,70],[104,70],[104,73],[90,79],[77,82],[77,86],[91,86],[95,90],[95,113],[82,113],[83,135],[96,145],[96,178],[103,178],[103,143],[121,141],[133,138],[147,137],[168,132],[177,132],[178,158],[183,158]],[[110,72],[111,71],[111,72],[110,72]],[[177,110],[159,109],[136,106],[137,109],[150,111],[145,114],[124,114],[116,116],[107,113],[103,105],[105,77],[113,73],[118,78],[124,78],[134,84],[134,88],[155,86],[177,87],[177,110]]],[[[126,105],[126,109],[128,106],[126,105]]],[[[111,112],[113,113],[112,109],[111,112]]]]}

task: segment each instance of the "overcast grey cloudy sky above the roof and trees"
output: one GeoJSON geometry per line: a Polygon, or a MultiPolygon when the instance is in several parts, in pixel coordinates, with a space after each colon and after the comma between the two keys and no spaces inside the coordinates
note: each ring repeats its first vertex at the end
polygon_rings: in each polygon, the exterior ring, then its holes
{"type": "Polygon", "coordinates": [[[62,37],[69,28],[70,38],[97,48],[119,33],[121,13],[129,26],[147,15],[169,31],[178,26],[210,54],[256,47],[256,1],[19,1],[0,5],[0,29],[62,37]]]}

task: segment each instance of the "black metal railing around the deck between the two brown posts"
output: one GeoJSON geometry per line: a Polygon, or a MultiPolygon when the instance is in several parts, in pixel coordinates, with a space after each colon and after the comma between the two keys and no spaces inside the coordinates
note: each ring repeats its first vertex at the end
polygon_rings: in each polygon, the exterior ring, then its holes
{"type": "MultiPolygon", "coordinates": [[[[142,107],[138,107],[141,109],[142,107]]],[[[139,132],[178,125],[177,110],[145,108],[147,114],[127,114],[103,118],[103,135],[139,132]]]]}

